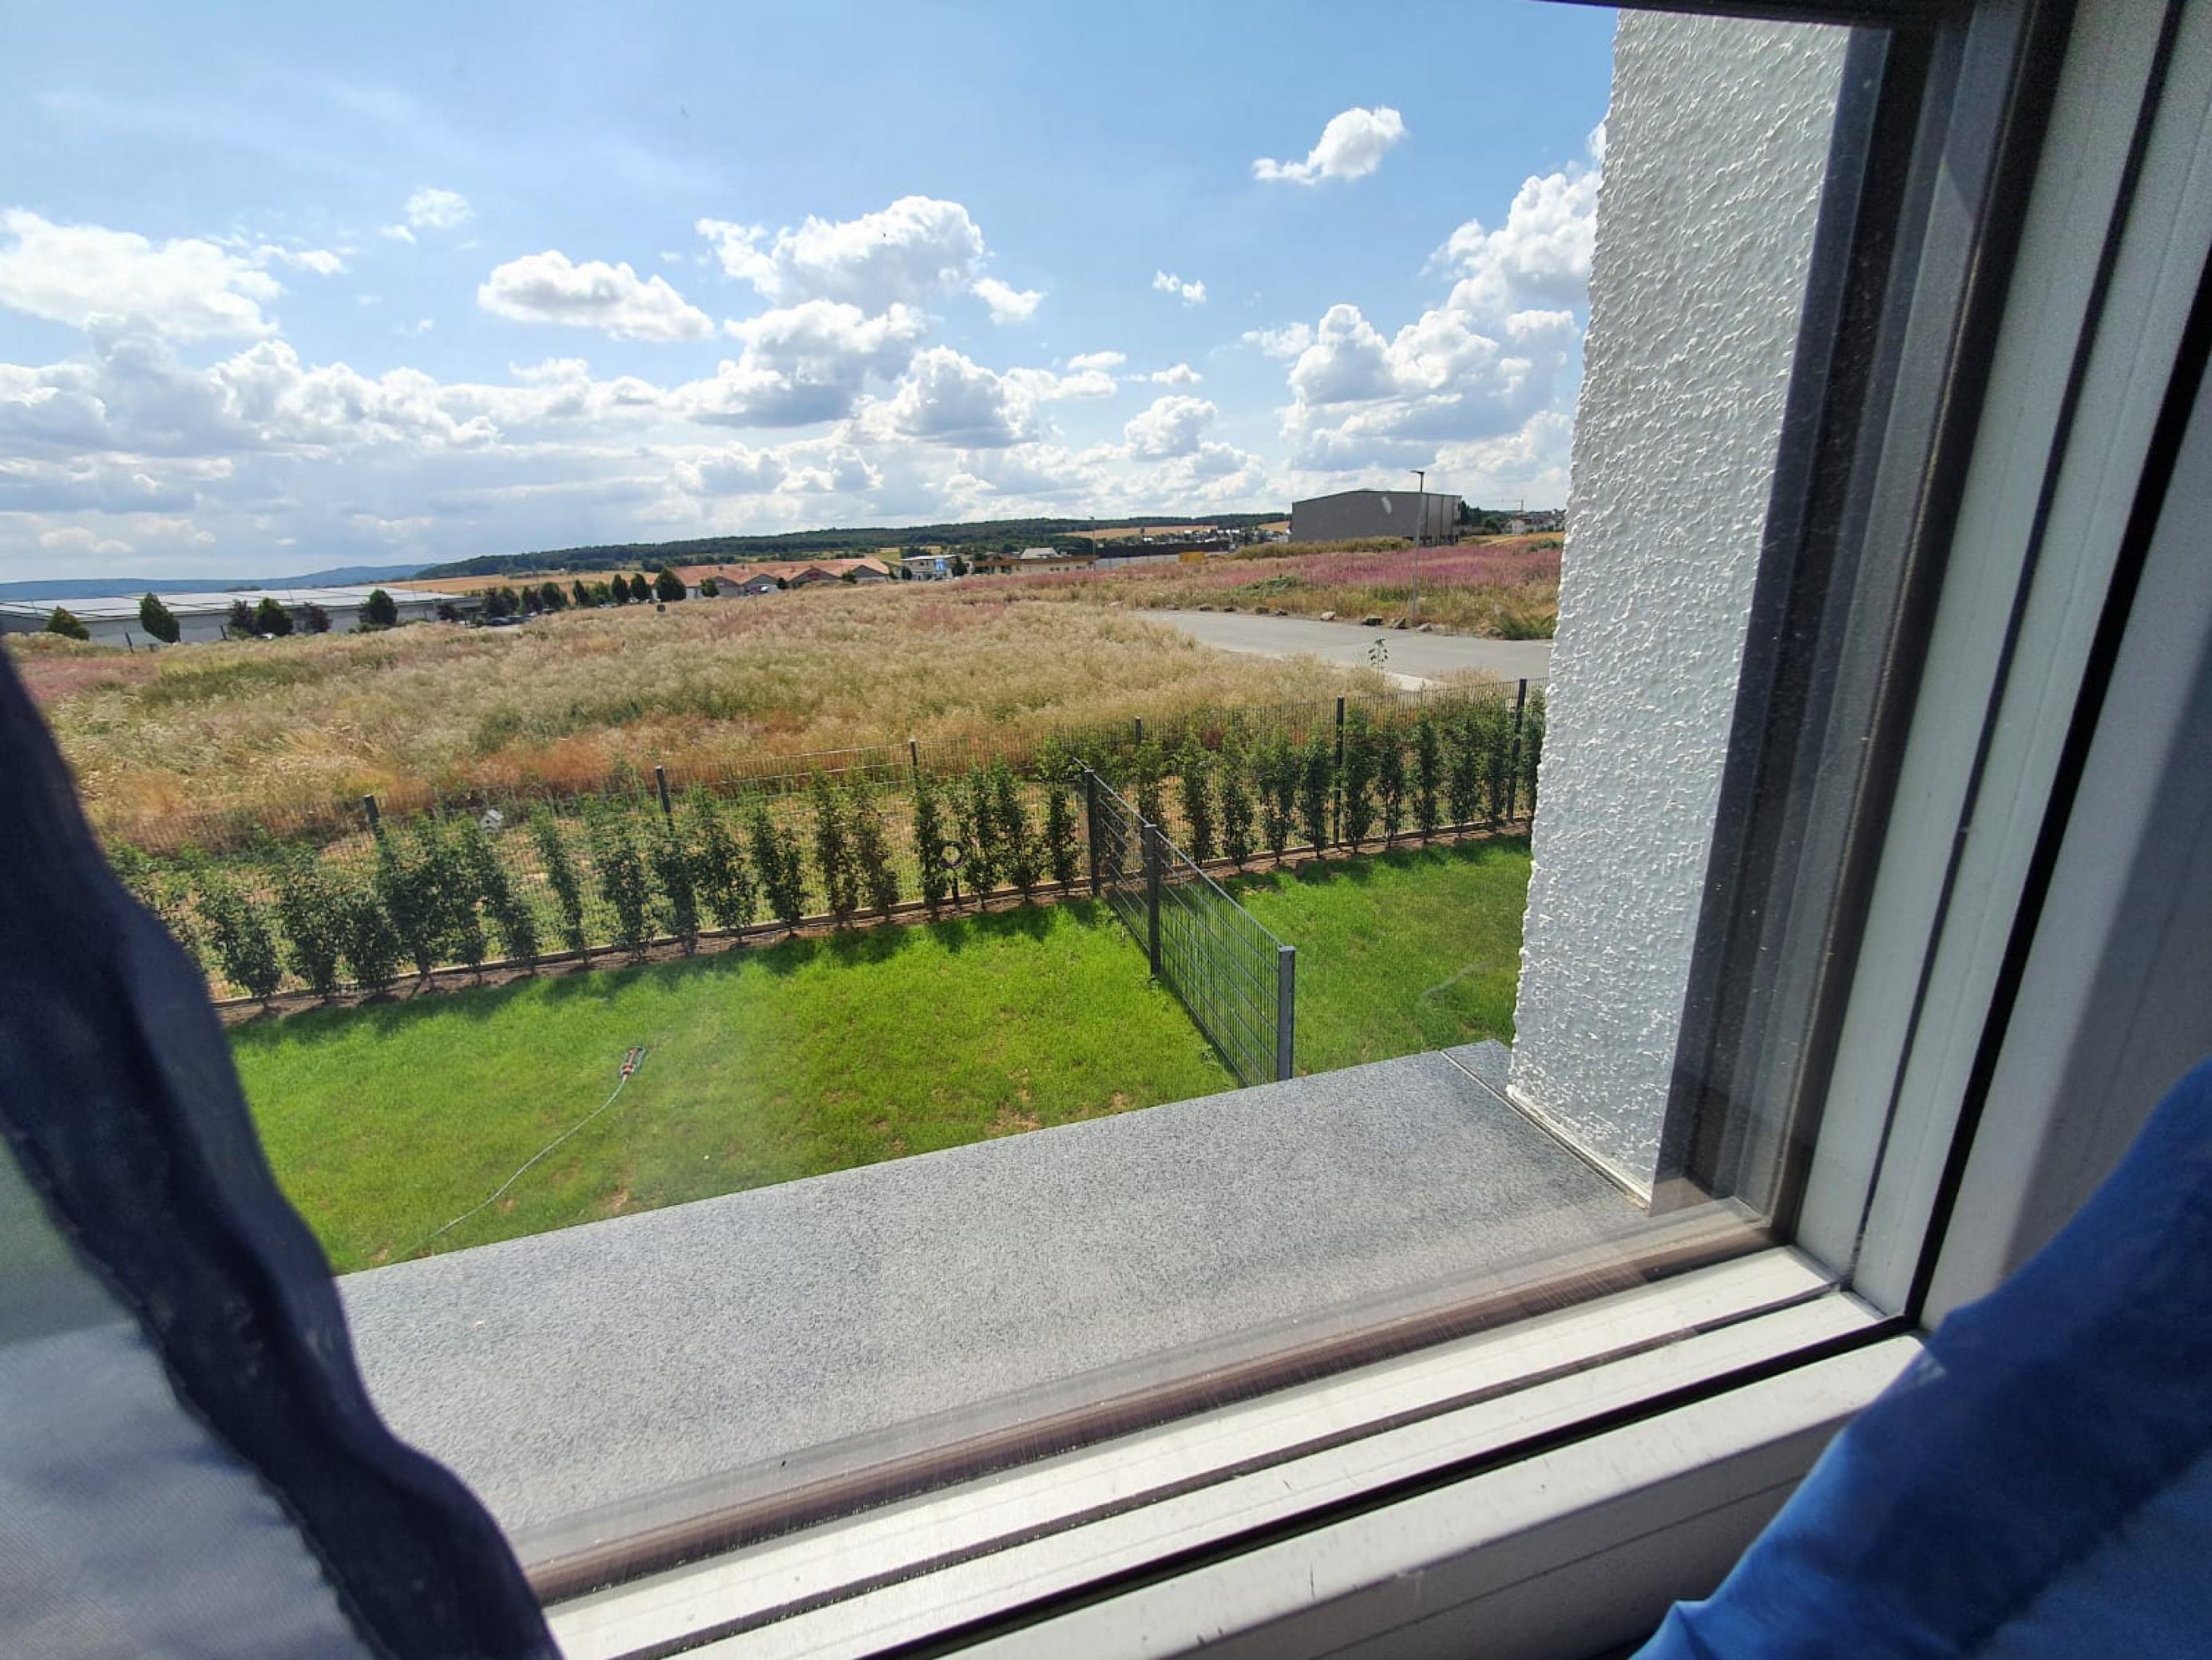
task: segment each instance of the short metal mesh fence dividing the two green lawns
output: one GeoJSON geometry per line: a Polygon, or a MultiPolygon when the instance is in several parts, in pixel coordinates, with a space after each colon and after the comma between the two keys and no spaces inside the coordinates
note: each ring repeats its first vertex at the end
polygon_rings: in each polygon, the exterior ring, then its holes
{"type": "Polygon", "coordinates": [[[1091,891],[1144,946],[1152,973],[1239,1083],[1296,1065],[1296,964],[1261,922],[1091,767],[1082,769],[1091,891]]]}

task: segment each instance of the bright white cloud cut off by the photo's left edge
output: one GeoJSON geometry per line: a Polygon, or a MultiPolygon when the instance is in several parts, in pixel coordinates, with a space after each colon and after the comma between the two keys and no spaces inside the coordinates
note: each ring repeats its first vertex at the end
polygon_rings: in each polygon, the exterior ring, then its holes
{"type": "Polygon", "coordinates": [[[263,305],[283,285],[212,241],[155,243],[104,225],[55,225],[24,208],[0,212],[0,305],[51,323],[139,323],[177,340],[270,334],[263,305]]]}

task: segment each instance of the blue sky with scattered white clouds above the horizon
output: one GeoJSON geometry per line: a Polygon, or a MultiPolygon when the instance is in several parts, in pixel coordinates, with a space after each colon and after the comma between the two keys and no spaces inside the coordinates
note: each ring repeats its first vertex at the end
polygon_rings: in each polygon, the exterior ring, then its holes
{"type": "Polygon", "coordinates": [[[1613,15],[0,18],[0,577],[1555,506],[1613,15]]]}

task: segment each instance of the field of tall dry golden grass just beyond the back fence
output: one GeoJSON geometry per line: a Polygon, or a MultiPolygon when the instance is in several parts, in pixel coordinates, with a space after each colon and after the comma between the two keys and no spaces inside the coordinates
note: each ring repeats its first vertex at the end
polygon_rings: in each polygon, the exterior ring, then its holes
{"type": "Polygon", "coordinates": [[[1212,652],[1108,606],[982,581],[135,656],[15,637],[9,654],[95,824],[124,836],[184,811],[588,780],[619,763],[710,774],[909,736],[1383,687],[1365,670],[1212,652]]]}

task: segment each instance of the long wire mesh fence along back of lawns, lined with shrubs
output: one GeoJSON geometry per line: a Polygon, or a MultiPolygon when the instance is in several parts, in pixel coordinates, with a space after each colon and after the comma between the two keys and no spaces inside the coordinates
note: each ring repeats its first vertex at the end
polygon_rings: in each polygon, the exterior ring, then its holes
{"type": "Polygon", "coordinates": [[[1201,869],[1520,824],[1542,734],[1540,685],[1451,687],[208,811],[108,853],[217,995],[330,995],[1066,893],[1082,767],[1201,869]]]}

